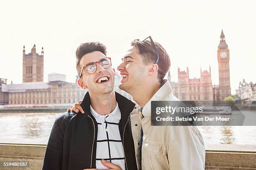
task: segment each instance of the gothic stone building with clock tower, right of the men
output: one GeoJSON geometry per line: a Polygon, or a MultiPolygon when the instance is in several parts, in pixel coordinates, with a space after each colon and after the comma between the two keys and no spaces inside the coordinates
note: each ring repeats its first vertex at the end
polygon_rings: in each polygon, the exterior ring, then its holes
{"type": "Polygon", "coordinates": [[[231,96],[229,49],[225,41],[223,30],[220,34],[220,44],[217,50],[219,85],[212,85],[211,67],[208,70],[200,69],[200,78],[189,78],[189,68],[180,70],[178,67],[178,82],[172,82],[170,72],[168,80],[172,85],[173,93],[180,100],[209,100],[220,101],[231,96]]]}

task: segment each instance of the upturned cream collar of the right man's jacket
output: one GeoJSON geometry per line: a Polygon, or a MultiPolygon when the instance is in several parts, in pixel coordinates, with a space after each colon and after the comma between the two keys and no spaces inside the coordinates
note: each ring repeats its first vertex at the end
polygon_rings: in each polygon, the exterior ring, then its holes
{"type": "Polygon", "coordinates": [[[166,100],[177,100],[172,94],[172,87],[167,80],[163,80],[164,85],[162,85],[159,90],[151,97],[147,104],[143,107],[142,114],[145,117],[151,117],[151,101],[166,101],[166,100]]]}

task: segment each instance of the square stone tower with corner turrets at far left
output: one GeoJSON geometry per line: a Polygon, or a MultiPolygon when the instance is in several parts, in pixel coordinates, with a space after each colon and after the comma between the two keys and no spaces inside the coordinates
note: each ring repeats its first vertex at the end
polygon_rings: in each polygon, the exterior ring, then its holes
{"type": "Polygon", "coordinates": [[[41,55],[36,53],[36,45],[31,52],[25,53],[23,46],[23,82],[43,82],[44,81],[44,47],[41,55]]]}

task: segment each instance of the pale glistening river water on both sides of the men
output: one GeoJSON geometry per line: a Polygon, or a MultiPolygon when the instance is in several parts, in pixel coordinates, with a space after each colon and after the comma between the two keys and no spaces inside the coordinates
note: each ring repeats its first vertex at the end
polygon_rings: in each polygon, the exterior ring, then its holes
{"type": "MultiPolygon", "coordinates": [[[[251,111],[246,111],[252,114],[251,111]]],[[[0,113],[0,143],[47,144],[62,113],[0,113]]],[[[256,145],[256,126],[198,126],[206,144],[256,145]]]]}

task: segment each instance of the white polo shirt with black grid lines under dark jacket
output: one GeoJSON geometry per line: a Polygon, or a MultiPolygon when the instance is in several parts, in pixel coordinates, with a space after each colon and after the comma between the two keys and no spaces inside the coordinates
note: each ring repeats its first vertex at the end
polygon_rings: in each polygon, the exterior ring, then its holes
{"type": "Polygon", "coordinates": [[[116,107],[113,112],[108,115],[100,115],[95,112],[91,105],[90,112],[95,117],[98,126],[96,168],[107,168],[101,163],[101,160],[104,159],[119,165],[122,170],[125,170],[123,144],[118,128],[118,124],[121,119],[121,112],[119,110],[118,103],[116,103],[116,107]]]}

